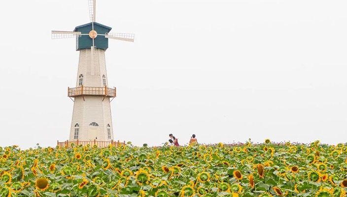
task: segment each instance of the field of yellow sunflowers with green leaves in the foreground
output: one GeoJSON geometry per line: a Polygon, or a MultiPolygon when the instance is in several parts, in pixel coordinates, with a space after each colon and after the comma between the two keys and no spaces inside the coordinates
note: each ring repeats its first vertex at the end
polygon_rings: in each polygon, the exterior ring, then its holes
{"type": "Polygon", "coordinates": [[[0,147],[0,197],[346,197],[347,144],[0,147]]]}

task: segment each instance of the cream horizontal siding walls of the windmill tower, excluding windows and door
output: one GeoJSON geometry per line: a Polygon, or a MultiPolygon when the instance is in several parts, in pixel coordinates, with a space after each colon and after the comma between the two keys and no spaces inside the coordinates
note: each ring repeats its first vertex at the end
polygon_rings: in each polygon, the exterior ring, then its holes
{"type": "MultiPolygon", "coordinates": [[[[83,49],[80,50],[76,87],[79,86],[79,75],[83,74],[83,86],[85,87],[104,87],[103,75],[107,73],[105,65],[104,50],[83,49]]],[[[111,118],[110,99],[103,96],[79,96],[75,97],[71,121],[69,140],[75,140],[74,126],[79,124],[78,140],[88,141],[90,139],[90,126],[92,122],[98,123],[98,141],[108,141],[113,139],[113,126],[111,118]],[[103,100],[104,99],[104,100],[103,100]],[[110,125],[111,139],[108,139],[107,124],[110,125]]]]}

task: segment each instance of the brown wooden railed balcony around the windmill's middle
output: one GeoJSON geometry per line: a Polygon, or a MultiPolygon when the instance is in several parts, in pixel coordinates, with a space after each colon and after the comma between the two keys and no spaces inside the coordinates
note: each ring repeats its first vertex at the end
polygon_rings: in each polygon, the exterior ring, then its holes
{"type": "Polygon", "coordinates": [[[77,97],[83,95],[96,95],[105,97],[116,97],[116,88],[104,87],[85,87],[80,86],[76,88],[68,87],[68,97],[77,97]]]}

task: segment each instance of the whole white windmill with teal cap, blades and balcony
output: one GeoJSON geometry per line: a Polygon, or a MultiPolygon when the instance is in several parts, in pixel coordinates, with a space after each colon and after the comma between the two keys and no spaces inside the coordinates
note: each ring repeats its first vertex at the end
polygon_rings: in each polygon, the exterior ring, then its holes
{"type": "Polygon", "coordinates": [[[69,141],[113,141],[110,98],[116,88],[108,88],[105,50],[108,38],[134,42],[132,33],[109,33],[111,28],[95,22],[95,1],[88,0],[90,23],[75,27],[73,32],[52,31],[52,39],[76,38],[79,51],[76,87],[68,88],[74,98],[69,141]]]}

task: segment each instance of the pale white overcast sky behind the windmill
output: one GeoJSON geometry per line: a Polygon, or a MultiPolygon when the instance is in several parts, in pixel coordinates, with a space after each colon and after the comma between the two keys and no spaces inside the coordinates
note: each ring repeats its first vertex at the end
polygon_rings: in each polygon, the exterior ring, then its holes
{"type": "MultiPolygon", "coordinates": [[[[347,141],[346,0],[97,0],[115,140],[347,141]]],[[[0,146],[69,137],[88,0],[1,2],[0,146]]]]}

